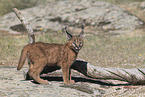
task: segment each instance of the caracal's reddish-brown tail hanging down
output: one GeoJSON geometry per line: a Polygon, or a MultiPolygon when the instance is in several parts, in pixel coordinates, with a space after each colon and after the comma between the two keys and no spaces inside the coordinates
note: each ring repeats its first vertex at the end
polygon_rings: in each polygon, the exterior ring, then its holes
{"type": "Polygon", "coordinates": [[[21,51],[21,57],[19,59],[19,64],[18,64],[17,70],[20,70],[23,67],[23,65],[25,63],[25,60],[26,60],[28,49],[29,49],[29,45],[25,46],[22,49],[22,51],[21,51]]]}

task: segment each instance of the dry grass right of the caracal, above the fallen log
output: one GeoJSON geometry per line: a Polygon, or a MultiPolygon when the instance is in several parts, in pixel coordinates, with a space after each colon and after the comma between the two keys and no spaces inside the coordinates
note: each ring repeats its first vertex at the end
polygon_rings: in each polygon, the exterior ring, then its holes
{"type": "Polygon", "coordinates": [[[144,41],[142,35],[88,36],[81,52],[83,59],[102,67],[144,67],[144,41]]]}

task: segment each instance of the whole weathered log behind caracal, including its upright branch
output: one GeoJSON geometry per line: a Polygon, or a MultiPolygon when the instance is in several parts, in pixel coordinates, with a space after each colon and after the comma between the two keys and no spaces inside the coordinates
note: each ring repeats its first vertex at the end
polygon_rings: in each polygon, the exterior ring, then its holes
{"type": "MultiPolygon", "coordinates": [[[[24,27],[28,31],[29,43],[35,42],[33,30],[26,22],[21,12],[13,9],[24,27]]],[[[86,61],[76,60],[72,64],[72,69],[77,70],[83,75],[94,79],[121,80],[130,84],[145,84],[145,68],[123,69],[123,68],[103,68],[89,64],[86,61]]],[[[41,73],[48,73],[60,69],[59,67],[46,66],[41,73]]]]}

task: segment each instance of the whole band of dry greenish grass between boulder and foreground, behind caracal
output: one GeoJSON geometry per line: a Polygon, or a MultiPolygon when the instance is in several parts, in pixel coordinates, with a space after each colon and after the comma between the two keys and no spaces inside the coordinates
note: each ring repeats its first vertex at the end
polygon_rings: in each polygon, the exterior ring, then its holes
{"type": "MultiPolygon", "coordinates": [[[[85,45],[79,53],[79,58],[91,64],[102,67],[135,68],[144,67],[145,63],[145,35],[138,34],[85,36],[85,45]]],[[[2,33],[2,32],[0,32],[2,33]]],[[[140,34],[139,34],[140,33],[140,34]]],[[[28,43],[27,35],[1,35],[0,64],[16,65],[21,49],[28,43]]],[[[36,34],[36,41],[65,43],[65,33],[36,34]]]]}

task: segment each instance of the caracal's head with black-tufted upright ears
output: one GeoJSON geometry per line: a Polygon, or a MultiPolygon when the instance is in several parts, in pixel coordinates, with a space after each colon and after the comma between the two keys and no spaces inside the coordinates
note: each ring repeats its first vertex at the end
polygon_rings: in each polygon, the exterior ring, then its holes
{"type": "Polygon", "coordinates": [[[81,32],[78,36],[71,35],[67,31],[66,27],[65,27],[65,32],[66,32],[67,37],[68,37],[67,45],[69,46],[69,48],[75,52],[79,52],[84,44],[84,41],[83,41],[84,27],[82,27],[81,32]]]}

